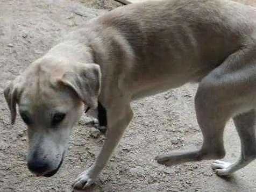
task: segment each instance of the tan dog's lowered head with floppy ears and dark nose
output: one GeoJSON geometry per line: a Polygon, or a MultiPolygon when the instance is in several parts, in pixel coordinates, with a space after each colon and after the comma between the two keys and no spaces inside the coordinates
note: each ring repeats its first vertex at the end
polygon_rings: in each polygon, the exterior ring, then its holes
{"type": "Polygon", "coordinates": [[[28,127],[27,166],[32,173],[54,175],[83,103],[97,107],[101,72],[96,64],[42,58],[4,90],[15,123],[16,105],[28,127]]]}

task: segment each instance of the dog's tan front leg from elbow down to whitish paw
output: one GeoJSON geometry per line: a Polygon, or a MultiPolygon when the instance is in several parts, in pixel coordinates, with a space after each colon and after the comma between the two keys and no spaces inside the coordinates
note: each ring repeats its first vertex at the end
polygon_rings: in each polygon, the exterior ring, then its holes
{"type": "Polygon", "coordinates": [[[132,119],[132,115],[130,103],[127,105],[123,103],[108,109],[108,131],[101,152],[99,152],[93,166],[77,177],[73,184],[75,189],[85,189],[94,183],[96,177],[105,167],[112,152],[118,145],[120,138],[122,138],[125,128],[132,119]]]}

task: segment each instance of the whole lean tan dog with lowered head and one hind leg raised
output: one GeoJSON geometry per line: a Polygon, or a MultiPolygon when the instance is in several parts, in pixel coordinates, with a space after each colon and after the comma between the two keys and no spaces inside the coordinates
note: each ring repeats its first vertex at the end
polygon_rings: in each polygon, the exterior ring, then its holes
{"type": "Polygon", "coordinates": [[[172,166],[225,155],[224,126],[233,117],[241,139],[235,163],[215,161],[229,175],[256,157],[256,9],[225,0],[172,0],[123,6],[70,33],[4,91],[12,123],[16,104],[29,127],[28,167],[59,169],[83,103],[107,111],[108,132],[95,163],[74,182],[86,188],[104,168],[132,119],[130,103],[200,82],[195,96],[203,146],[159,155],[172,166]]]}

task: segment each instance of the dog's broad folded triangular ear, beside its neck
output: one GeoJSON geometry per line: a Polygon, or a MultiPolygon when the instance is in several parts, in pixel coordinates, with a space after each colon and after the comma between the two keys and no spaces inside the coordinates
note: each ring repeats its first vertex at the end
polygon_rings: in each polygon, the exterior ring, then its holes
{"type": "Polygon", "coordinates": [[[63,74],[61,82],[72,88],[84,104],[97,108],[101,90],[101,69],[94,63],[75,63],[71,71],[63,74]]]}

